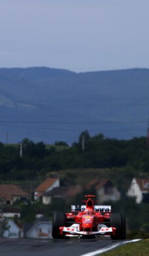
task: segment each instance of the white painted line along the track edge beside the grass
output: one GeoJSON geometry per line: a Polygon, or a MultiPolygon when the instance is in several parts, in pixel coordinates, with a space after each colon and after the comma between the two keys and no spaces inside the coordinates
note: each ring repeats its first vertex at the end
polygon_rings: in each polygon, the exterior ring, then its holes
{"type": "Polygon", "coordinates": [[[104,247],[103,249],[100,249],[100,250],[97,250],[97,251],[94,251],[94,252],[89,252],[89,253],[86,253],[86,254],[82,254],[80,256],[95,256],[97,254],[101,254],[103,252],[107,252],[107,251],[110,251],[120,245],[123,245],[123,244],[127,244],[127,243],[134,243],[134,242],[137,242],[137,241],[140,241],[142,239],[134,239],[134,240],[130,240],[130,241],[123,241],[123,242],[119,242],[117,244],[113,244],[112,246],[107,246],[107,247],[104,247]]]}

